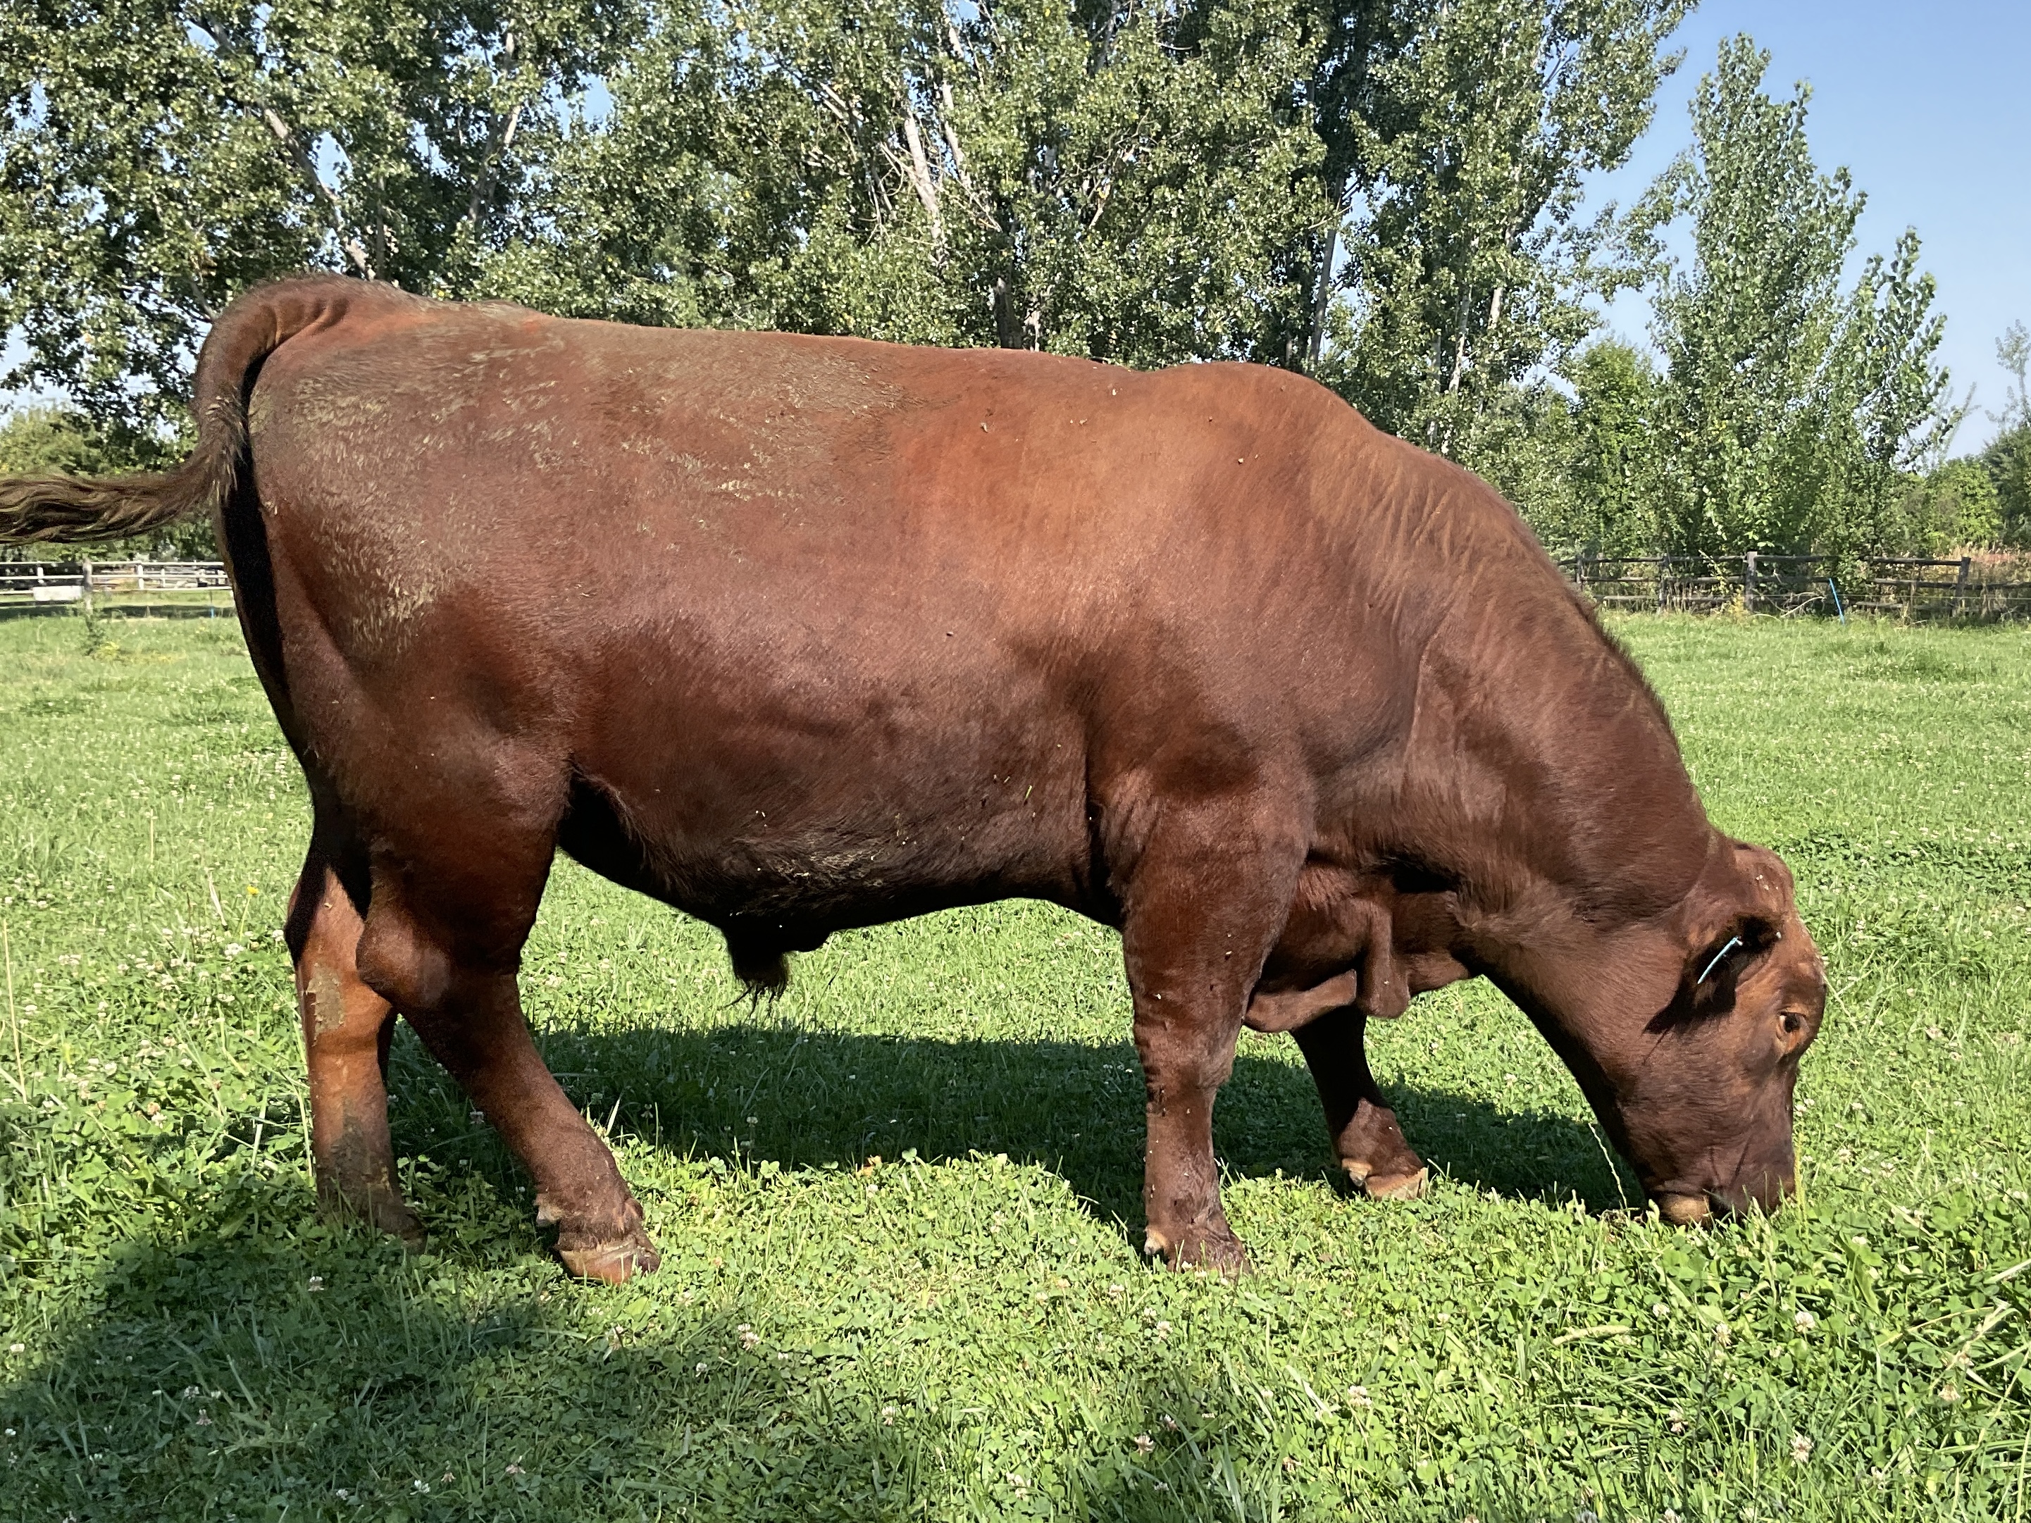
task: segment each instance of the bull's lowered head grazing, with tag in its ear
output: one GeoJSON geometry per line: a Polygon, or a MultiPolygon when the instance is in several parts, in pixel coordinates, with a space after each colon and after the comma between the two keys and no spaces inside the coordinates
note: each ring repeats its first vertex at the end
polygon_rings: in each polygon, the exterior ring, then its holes
{"type": "Polygon", "coordinates": [[[1676,910],[1590,950],[1562,967],[1527,958],[1511,993],[1657,1208],[1674,1222],[1773,1210],[1797,1184],[1791,1097],[1826,1011],[1789,869],[1716,835],[1676,910]]]}

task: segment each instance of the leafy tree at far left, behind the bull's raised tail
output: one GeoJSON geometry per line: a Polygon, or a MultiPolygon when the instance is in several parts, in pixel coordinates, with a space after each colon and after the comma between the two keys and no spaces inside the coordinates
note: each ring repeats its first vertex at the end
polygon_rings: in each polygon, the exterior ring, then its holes
{"type": "Polygon", "coordinates": [[[211,315],[305,266],[471,288],[624,0],[20,0],[0,8],[0,384],[177,453],[211,315]]]}

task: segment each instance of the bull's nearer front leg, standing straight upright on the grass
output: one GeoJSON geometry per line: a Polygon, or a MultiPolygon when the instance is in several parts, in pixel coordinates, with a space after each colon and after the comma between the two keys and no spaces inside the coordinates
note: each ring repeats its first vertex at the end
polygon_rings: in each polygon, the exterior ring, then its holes
{"type": "Polygon", "coordinates": [[[1245,804],[1170,816],[1137,859],[1121,926],[1141,1054],[1143,1249],[1174,1269],[1249,1269],[1221,1208],[1213,1099],[1304,863],[1245,804]]]}

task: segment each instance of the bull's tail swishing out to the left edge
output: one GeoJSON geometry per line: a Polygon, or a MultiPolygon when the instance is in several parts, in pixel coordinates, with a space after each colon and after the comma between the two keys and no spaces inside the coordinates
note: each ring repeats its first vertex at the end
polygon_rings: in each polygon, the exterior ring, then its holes
{"type": "Polygon", "coordinates": [[[380,294],[359,280],[307,276],[240,296],[219,313],[197,357],[197,449],[189,459],[158,475],[0,477],[0,544],[120,540],[223,510],[246,459],[248,390],[262,359],[297,333],[339,321],[370,292],[380,294]]]}

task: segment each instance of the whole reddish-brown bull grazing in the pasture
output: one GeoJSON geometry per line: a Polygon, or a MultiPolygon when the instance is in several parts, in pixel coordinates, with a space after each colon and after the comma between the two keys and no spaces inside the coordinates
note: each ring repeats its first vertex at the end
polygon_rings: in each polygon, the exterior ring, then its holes
{"type": "Polygon", "coordinates": [[[1468,975],[1672,1218],[1791,1188],[1826,985],[1789,873],[1708,824],[1507,504],[1310,382],[294,280],[219,319],[197,416],[173,475],[0,483],[0,538],[213,512],[315,804],[319,1188],[390,1231],[400,1013],[571,1269],[656,1263],[522,1019],[556,849],[758,987],[944,906],[1119,926],[1172,1263],[1245,1265],[1210,1133],[1243,1021],[1296,1034],[1347,1170],[1414,1194],[1363,1028],[1468,975]]]}

